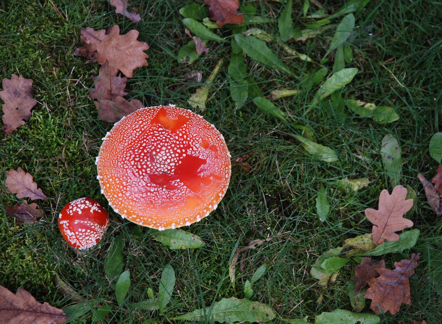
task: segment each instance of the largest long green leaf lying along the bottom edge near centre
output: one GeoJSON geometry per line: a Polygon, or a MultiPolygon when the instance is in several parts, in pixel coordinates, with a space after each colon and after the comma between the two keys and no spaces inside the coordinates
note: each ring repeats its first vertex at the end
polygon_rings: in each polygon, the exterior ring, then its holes
{"type": "Polygon", "coordinates": [[[269,305],[245,298],[230,297],[215,302],[212,307],[206,307],[206,312],[204,309],[197,309],[192,313],[172,317],[171,320],[206,320],[207,323],[232,324],[244,321],[268,322],[275,317],[276,313],[269,305]]]}

